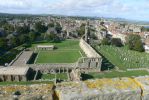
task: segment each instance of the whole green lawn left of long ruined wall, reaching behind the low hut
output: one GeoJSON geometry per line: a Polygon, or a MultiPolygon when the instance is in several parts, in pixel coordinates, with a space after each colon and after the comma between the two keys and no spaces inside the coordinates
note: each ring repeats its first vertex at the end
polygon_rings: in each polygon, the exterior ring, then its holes
{"type": "Polygon", "coordinates": [[[79,46],[79,40],[65,40],[60,43],[38,43],[33,44],[32,48],[37,45],[54,45],[57,49],[53,51],[39,51],[36,64],[39,63],[74,63],[78,61],[81,56],[82,50],[79,46]]]}

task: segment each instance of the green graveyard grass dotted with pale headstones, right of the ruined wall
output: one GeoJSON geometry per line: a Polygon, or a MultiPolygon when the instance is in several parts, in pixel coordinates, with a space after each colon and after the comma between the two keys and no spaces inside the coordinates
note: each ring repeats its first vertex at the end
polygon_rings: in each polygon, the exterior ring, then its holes
{"type": "Polygon", "coordinates": [[[128,50],[127,47],[101,45],[96,47],[109,62],[122,70],[149,67],[149,54],[128,50]]]}

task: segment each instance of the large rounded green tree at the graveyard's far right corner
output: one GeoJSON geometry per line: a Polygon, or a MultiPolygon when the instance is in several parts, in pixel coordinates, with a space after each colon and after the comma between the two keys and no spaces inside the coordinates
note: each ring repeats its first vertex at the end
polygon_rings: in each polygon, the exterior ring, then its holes
{"type": "Polygon", "coordinates": [[[144,51],[143,43],[141,41],[141,37],[137,34],[130,34],[126,38],[126,42],[130,50],[135,51],[144,51]]]}

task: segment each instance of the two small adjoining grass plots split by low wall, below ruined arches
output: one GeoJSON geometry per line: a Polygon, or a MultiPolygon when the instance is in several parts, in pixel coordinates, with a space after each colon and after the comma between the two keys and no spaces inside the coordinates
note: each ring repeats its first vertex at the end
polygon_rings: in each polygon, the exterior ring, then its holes
{"type": "MultiPolygon", "coordinates": [[[[67,74],[66,73],[61,73],[61,74],[56,74],[57,79],[61,80],[67,80],[67,74]]],[[[43,74],[41,79],[55,79],[55,74],[43,74]]]]}

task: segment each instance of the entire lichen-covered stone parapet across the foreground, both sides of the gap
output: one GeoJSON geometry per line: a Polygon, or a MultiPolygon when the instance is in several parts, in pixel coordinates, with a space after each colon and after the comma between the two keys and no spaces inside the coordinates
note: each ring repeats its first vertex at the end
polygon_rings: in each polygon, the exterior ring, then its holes
{"type": "Polygon", "coordinates": [[[34,85],[1,85],[1,100],[149,100],[149,76],[34,85]],[[53,89],[53,87],[56,87],[53,89]],[[21,95],[14,93],[19,91],[21,95]]]}

